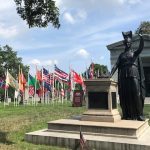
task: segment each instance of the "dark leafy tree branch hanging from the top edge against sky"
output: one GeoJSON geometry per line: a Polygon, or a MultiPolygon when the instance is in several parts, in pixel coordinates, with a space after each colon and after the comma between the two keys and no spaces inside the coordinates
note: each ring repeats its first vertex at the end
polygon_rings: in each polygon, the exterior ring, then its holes
{"type": "Polygon", "coordinates": [[[31,27],[47,27],[49,23],[60,27],[59,9],[53,0],[14,0],[17,13],[31,27]]]}

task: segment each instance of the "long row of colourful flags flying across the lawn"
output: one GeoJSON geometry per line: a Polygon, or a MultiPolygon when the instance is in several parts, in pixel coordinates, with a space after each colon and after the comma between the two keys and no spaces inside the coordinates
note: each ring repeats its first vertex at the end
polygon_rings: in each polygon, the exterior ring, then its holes
{"type": "Polygon", "coordinates": [[[35,93],[42,96],[43,93],[54,90],[55,81],[60,82],[62,95],[64,95],[63,84],[68,84],[71,90],[73,90],[73,84],[75,83],[81,84],[82,86],[84,85],[82,76],[80,76],[77,72],[71,69],[70,73],[67,74],[55,65],[53,73],[50,73],[46,68],[42,68],[42,70],[38,70],[36,68],[35,77],[29,73],[28,81],[26,80],[22,70],[19,71],[18,80],[16,80],[7,70],[6,79],[0,79],[0,88],[8,89],[8,87],[11,86],[15,90],[19,90],[21,93],[24,93],[25,88],[28,87],[30,96],[34,96],[35,93]]]}

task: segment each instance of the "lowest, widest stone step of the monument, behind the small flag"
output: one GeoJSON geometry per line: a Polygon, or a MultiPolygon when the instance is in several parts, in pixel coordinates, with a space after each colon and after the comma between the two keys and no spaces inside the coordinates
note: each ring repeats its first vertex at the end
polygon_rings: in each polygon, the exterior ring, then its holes
{"type": "MultiPolygon", "coordinates": [[[[150,150],[150,128],[139,138],[96,136],[83,133],[89,149],[95,150],[150,150]]],[[[50,131],[47,129],[26,133],[25,140],[34,144],[45,144],[74,149],[80,134],[50,131]]]]}

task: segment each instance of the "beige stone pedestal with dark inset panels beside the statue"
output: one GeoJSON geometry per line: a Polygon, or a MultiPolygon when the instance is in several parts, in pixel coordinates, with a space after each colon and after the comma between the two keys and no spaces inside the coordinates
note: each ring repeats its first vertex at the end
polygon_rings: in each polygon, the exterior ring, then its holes
{"type": "Polygon", "coordinates": [[[121,119],[117,109],[117,83],[110,78],[88,79],[86,85],[87,111],[83,121],[115,122],[121,119]]]}

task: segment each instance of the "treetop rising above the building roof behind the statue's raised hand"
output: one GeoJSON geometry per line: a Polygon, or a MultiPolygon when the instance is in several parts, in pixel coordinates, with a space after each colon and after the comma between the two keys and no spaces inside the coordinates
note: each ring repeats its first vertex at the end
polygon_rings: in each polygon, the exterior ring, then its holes
{"type": "Polygon", "coordinates": [[[141,29],[143,34],[150,34],[150,21],[141,22],[141,24],[135,31],[136,34],[139,32],[139,29],[141,29]]]}

